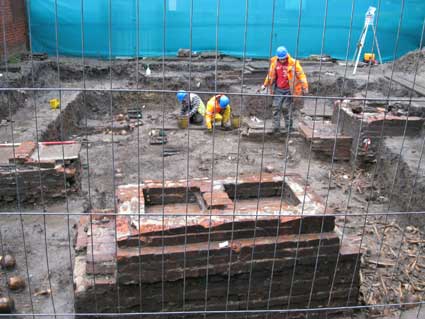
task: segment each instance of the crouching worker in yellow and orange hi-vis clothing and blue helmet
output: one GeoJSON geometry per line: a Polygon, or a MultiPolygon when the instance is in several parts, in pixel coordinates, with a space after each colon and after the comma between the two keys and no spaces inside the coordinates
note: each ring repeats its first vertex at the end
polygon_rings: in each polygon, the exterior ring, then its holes
{"type": "Polygon", "coordinates": [[[226,95],[215,95],[207,103],[207,111],[205,113],[205,125],[208,131],[212,131],[215,123],[221,122],[221,126],[230,128],[230,99],[226,95]]]}

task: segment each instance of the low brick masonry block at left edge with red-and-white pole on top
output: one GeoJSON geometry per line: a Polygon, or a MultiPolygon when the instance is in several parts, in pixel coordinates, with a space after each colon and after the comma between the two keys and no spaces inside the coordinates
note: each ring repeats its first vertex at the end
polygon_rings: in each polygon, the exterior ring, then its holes
{"type": "Polygon", "coordinates": [[[21,202],[39,202],[41,192],[45,200],[78,192],[80,149],[75,141],[0,144],[0,202],[16,202],[18,196],[21,202]]]}

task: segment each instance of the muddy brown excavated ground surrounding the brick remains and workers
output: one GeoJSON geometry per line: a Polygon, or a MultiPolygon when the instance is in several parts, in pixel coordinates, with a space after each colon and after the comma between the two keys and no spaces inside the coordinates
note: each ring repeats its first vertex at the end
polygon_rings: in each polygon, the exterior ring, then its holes
{"type": "MultiPolygon", "coordinates": [[[[411,70],[418,56],[421,58],[418,54],[413,54],[413,58],[405,57],[407,62],[399,62],[396,71],[411,70]]],[[[83,214],[90,207],[112,208],[117,185],[145,179],[260,174],[265,170],[300,174],[323,197],[328,207],[347,215],[337,218],[341,234],[363,238],[360,303],[422,300],[425,289],[421,279],[425,271],[421,244],[424,227],[413,224],[404,216],[356,216],[398,211],[402,206],[398,205],[400,200],[394,196],[397,192],[391,191],[390,184],[385,182],[391,180],[385,176],[394,167],[394,157],[388,156],[392,164],[384,162],[357,169],[347,162],[317,157],[297,133],[289,138],[286,135],[264,135],[252,139],[242,136],[241,130],[216,130],[214,135],[206,133],[202,127],[178,130],[176,117],[179,110],[174,93],[125,91],[129,88],[177,90],[189,87],[202,92],[222,90],[233,93],[230,94],[231,104],[236,113],[270,122],[269,98],[240,96],[241,92],[255,93],[265,75],[267,61],[248,61],[244,65],[238,59],[224,57],[217,64],[208,59],[189,62],[169,59],[163,65],[160,60],[114,61],[110,68],[108,62],[87,60],[83,68],[81,60],[61,58],[59,78],[54,60],[35,61],[34,68],[30,62],[24,61],[14,66],[11,69],[13,72],[5,74],[3,79],[7,81],[2,83],[4,86],[32,87],[34,83],[36,87],[44,88],[60,85],[93,89],[85,93],[78,90],[37,93],[20,90],[1,95],[0,121],[6,120],[4,125],[0,125],[1,142],[16,143],[36,138],[40,141],[76,139],[83,145],[80,153],[83,164],[80,194],[62,201],[0,206],[4,212],[44,210],[51,213],[46,217],[0,217],[2,249],[12,252],[18,262],[14,272],[1,274],[0,294],[10,293],[5,288],[5,280],[10,275],[20,274],[27,282],[29,277],[30,285],[25,290],[11,293],[17,312],[73,312],[72,245],[75,235],[73,226],[78,216],[72,214],[83,214]],[[152,70],[151,76],[145,73],[148,66],[152,70]],[[123,90],[114,93],[104,91],[111,87],[123,90]],[[52,98],[61,99],[61,112],[50,109],[48,101],[52,98]],[[119,115],[126,114],[129,108],[134,107],[142,109],[143,119],[140,123],[131,123],[131,129],[126,121],[119,120],[119,115]],[[149,133],[163,128],[168,143],[151,145],[149,133]],[[163,157],[164,149],[173,149],[176,154],[163,157]],[[71,215],[54,214],[58,212],[71,215]],[[418,254],[420,257],[415,258],[418,254]]],[[[303,65],[310,81],[310,94],[313,95],[420,98],[419,93],[405,86],[394,82],[390,84],[384,74],[392,70],[391,65],[360,68],[356,76],[351,75],[351,68],[346,69],[338,63],[305,61],[303,65]]],[[[420,65],[423,65],[423,60],[420,60],[420,65]]],[[[201,96],[206,102],[208,95],[201,96]]],[[[332,105],[331,100],[325,103],[332,105]]],[[[316,104],[316,100],[310,100],[306,104],[314,109],[320,102],[316,104]]],[[[318,116],[320,112],[319,107],[316,112],[318,116]]],[[[302,110],[297,109],[296,122],[303,116],[302,110]]],[[[416,149],[421,139],[418,137],[405,147],[416,149]]],[[[401,143],[392,141],[386,151],[397,154],[397,147],[401,143]]],[[[410,158],[410,164],[403,161],[403,165],[414,167],[419,163],[420,166],[418,152],[420,150],[410,158]]],[[[400,169],[402,173],[399,174],[406,177],[400,175],[398,178],[411,178],[407,171],[400,169]]],[[[420,196],[414,200],[415,210],[423,210],[420,196]]],[[[398,314],[390,309],[381,310],[384,311],[362,311],[356,316],[398,314]]]]}

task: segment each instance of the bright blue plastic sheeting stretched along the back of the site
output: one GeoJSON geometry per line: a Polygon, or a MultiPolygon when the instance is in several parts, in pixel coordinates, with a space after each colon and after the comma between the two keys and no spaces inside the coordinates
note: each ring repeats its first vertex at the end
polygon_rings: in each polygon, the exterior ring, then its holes
{"type": "MultiPolygon", "coordinates": [[[[166,0],[164,8],[163,0],[28,0],[32,48],[34,52],[56,54],[58,50],[60,55],[84,53],[97,58],[176,55],[179,48],[190,48],[193,2],[193,51],[214,51],[218,43],[220,52],[243,56],[247,13],[246,57],[269,57],[279,45],[298,57],[320,54],[324,34],[323,54],[346,58],[353,0],[328,0],[327,10],[326,0],[303,0],[301,14],[300,0],[220,0],[218,18],[217,1],[166,0]]],[[[349,59],[369,6],[377,7],[377,37],[384,60],[419,47],[424,0],[354,0],[349,59]]],[[[371,52],[372,40],[369,29],[363,52],[371,52]]]]}

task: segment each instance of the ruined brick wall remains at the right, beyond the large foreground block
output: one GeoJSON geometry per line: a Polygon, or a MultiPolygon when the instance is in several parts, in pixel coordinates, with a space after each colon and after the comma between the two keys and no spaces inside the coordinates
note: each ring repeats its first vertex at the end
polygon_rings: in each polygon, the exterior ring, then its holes
{"type": "Polygon", "coordinates": [[[403,136],[405,129],[407,136],[420,134],[425,123],[423,111],[407,108],[409,112],[402,110],[403,114],[398,114],[398,110],[371,107],[363,101],[336,101],[331,122],[303,120],[298,128],[318,155],[334,160],[355,160],[362,165],[375,161],[381,134],[383,137],[403,136]]]}

